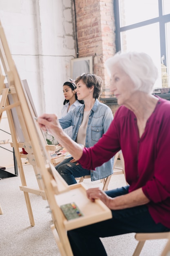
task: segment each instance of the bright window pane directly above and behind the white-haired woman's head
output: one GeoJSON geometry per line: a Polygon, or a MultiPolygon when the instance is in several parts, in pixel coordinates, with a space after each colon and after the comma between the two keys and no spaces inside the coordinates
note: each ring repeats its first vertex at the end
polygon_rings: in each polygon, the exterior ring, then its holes
{"type": "Polygon", "coordinates": [[[121,49],[123,52],[137,51],[149,54],[159,70],[159,79],[154,87],[162,87],[159,23],[121,32],[121,49]]]}

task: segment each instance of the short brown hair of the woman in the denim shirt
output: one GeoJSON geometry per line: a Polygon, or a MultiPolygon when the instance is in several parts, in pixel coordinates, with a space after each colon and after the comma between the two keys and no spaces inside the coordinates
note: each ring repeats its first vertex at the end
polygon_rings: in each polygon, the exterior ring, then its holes
{"type": "Polygon", "coordinates": [[[91,88],[94,85],[93,98],[98,99],[100,94],[102,93],[102,85],[103,80],[100,76],[95,74],[85,74],[83,73],[81,76],[78,76],[75,80],[75,84],[82,80],[83,83],[86,84],[87,88],[91,88]]]}

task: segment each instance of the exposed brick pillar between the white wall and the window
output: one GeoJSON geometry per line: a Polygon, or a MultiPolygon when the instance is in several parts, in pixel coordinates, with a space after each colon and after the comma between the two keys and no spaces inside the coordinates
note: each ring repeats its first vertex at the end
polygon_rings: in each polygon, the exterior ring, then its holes
{"type": "Polygon", "coordinates": [[[93,73],[102,77],[102,98],[110,94],[104,62],[115,54],[113,0],[75,0],[79,57],[93,56],[93,73]]]}

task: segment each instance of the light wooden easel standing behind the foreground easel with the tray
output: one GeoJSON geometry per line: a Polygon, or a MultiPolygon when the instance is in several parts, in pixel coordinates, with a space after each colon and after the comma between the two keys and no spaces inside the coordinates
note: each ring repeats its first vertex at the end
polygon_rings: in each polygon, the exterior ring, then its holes
{"type": "MultiPolygon", "coordinates": [[[[16,80],[19,81],[20,87],[23,88],[23,86],[22,86],[21,81],[19,79],[18,73],[16,72],[15,64],[14,64],[12,58],[11,58],[10,52],[8,52],[9,49],[7,47],[7,44],[5,45],[5,47],[4,47],[4,45],[2,45],[2,43],[4,43],[4,41],[5,41],[5,37],[4,37],[3,34],[1,34],[1,36],[2,36],[2,38],[1,38],[1,41],[0,41],[0,56],[1,56],[2,65],[4,67],[4,72],[6,74],[7,81],[9,83],[9,88],[6,88],[5,84],[3,84],[3,80],[4,80],[5,76],[2,76],[2,70],[1,70],[0,88],[2,89],[1,90],[2,99],[0,101],[0,120],[2,118],[2,112],[6,111],[10,131],[11,131],[11,137],[12,137],[12,141],[13,141],[12,146],[15,150],[15,156],[16,156],[16,159],[17,159],[18,169],[19,169],[19,172],[20,172],[20,178],[21,178],[21,182],[22,182],[22,186],[20,186],[20,189],[24,192],[24,197],[25,197],[25,201],[26,201],[26,207],[27,207],[27,210],[28,210],[28,214],[29,214],[30,224],[31,224],[31,226],[34,226],[35,222],[34,222],[34,219],[33,219],[33,213],[32,213],[32,208],[31,208],[31,202],[30,202],[30,199],[29,199],[29,193],[34,193],[34,194],[37,194],[37,195],[41,195],[43,199],[46,199],[46,195],[45,195],[44,190],[42,189],[43,186],[42,186],[42,182],[40,180],[37,180],[40,189],[29,188],[29,187],[27,187],[27,184],[26,184],[26,179],[25,179],[25,176],[24,176],[24,169],[23,169],[23,166],[22,166],[21,158],[26,157],[26,158],[29,159],[29,162],[32,164],[32,166],[34,168],[35,175],[38,174],[38,169],[36,167],[34,155],[32,154],[31,142],[29,140],[29,133],[28,133],[27,128],[26,128],[26,123],[25,123],[25,121],[23,121],[24,120],[24,115],[26,113],[24,112],[24,110],[22,110],[20,108],[20,101],[18,99],[18,95],[17,95],[17,92],[15,90],[16,88],[15,88],[14,80],[16,79],[16,80]],[[6,53],[7,53],[7,55],[6,55],[6,53]],[[8,57],[8,61],[7,61],[7,57],[8,57]],[[13,72],[12,72],[12,69],[13,69],[13,72]],[[16,78],[14,78],[13,74],[15,74],[16,78]],[[9,95],[12,96],[12,98],[13,98],[13,103],[12,104],[9,103],[9,99],[8,99],[9,95]],[[13,115],[12,115],[12,112],[11,112],[12,109],[16,110],[16,112],[17,112],[17,115],[18,115],[18,120],[17,121],[20,122],[20,126],[21,126],[21,129],[23,131],[23,136],[24,136],[24,141],[23,142],[18,142],[16,132],[15,132],[14,119],[13,119],[13,115]],[[25,148],[29,154],[28,155],[20,154],[19,148],[25,148]]],[[[23,90],[20,88],[20,94],[21,94],[20,97],[22,97],[23,99],[26,98],[26,93],[24,92],[24,88],[23,88],[23,90]]],[[[27,99],[27,101],[28,101],[28,99],[27,99]]],[[[24,108],[24,106],[23,106],[23,108],[24,108]]],[[[32,112],[32,115],[33,115],[33,110],[31,109],[31,106],[29,106],[29,108],[30,108],[30,110],[32,112]]]]}

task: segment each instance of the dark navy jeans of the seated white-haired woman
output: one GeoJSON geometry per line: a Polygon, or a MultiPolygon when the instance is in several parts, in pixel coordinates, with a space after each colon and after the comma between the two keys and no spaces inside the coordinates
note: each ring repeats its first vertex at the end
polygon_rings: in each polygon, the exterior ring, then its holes
{"type": "MultiPolygon", "coordinates": [[[[129,186],[105,191],[110,197],[128,193],[129,186]]],[[[112,210],[112,219],[67,232],[74,256],[107,256],[100,237],[127,233],[152,233],[170,231],[161,223],[156,224],[147,205],[123,210],[112,210]]],[[[113,240],[114,241],[114,240],[113,240]]],[[[116,255],[116,254],[115,254],[116,255]]]]}

